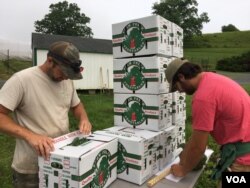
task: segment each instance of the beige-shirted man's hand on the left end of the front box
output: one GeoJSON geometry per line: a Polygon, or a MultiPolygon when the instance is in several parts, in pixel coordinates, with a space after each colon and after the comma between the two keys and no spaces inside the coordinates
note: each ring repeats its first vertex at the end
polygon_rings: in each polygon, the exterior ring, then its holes
{"type": "Polygon", "coordinates": [[[47,136],[30,134],[26,140],[35,149],[37,155],[48,160],[50,152],[54,151],[53,139],[47,136]]]}

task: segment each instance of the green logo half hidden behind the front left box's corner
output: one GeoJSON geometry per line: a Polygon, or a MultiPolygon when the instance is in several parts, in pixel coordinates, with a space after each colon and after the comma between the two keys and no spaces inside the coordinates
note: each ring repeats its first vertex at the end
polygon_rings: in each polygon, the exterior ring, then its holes
{"type": "Polygon", "coordinates": [[[117,156],[117,173],[121,174],[124,172],[124,170],[126,170],[127,165],[126,165],[126,160],[125,160],[125,156],[126,156],[126,149],[125,147],[118,142],[118,156],[117,156]]]}

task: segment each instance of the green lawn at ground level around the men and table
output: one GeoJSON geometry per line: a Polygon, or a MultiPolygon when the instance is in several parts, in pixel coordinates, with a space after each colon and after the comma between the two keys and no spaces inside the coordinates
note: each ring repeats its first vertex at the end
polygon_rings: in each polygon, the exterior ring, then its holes
{"type": "MultiPolygon", "coordinates": [[[[250,94],[250,83],[244,84],[243,87],[250,94]]],[[[86,95],[79,94],[81,101],[84,103],[89,119],[93,125],[93,130],[100,130],[114,125],[113,113],[113,94],[96,94],[86,95]]],[[[187,96],[187,120],[186,120],[186,139],[191,134],[191,96],[187,96]]],[[[71,130],[77,129],[77,122],[70,114],[71,130]]],[[[1,187],[11,188],[11,160],[14,151],[14,139],[12,137],[0,133],[0,184],[1,187]]],[[[218,146],[213,139],[209,138],[208,147],[215,152],[206,165],[205,170],[200,176],[195,188],[215,187],[216,183],[209,179],[212,168],[215,165],[216,158],[218,157],[218,146]]]]}

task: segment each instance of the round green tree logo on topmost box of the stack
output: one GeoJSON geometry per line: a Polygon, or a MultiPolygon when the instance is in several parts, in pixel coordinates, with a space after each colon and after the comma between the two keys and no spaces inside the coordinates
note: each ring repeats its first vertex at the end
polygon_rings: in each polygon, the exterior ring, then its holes
{"type": "Polygon", "coordinates": [[[122,44],[127,52],[136,53],[144,47],[145,41],[142,35],[144,29],[144,26],[138,22],[131,22],[123,28],[124,40],[122,44]]]}

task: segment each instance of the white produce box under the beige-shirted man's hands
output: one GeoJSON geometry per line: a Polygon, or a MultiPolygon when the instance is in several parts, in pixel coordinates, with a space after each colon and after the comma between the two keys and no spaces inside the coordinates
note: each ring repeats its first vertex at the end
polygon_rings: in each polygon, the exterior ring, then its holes
{"type": "Polygon", "coordinates": [[[40,188],[104,188],[117,178],[117,138],[92,134],[84,139],[78,131],[54,139],[49,160],[38,158],[40,188]]]}

